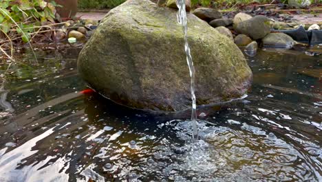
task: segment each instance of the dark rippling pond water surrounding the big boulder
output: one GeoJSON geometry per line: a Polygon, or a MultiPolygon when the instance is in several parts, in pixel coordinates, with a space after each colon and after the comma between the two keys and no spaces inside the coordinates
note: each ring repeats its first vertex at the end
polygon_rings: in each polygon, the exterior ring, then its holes
{"type": "Polygon", "coordinates": [[[199,108],[191,141],[190,111],[81,92],[78,51],[1,65],[0,181],[322,181],[321,56],[259,51],[248,97],[199,108]]]}

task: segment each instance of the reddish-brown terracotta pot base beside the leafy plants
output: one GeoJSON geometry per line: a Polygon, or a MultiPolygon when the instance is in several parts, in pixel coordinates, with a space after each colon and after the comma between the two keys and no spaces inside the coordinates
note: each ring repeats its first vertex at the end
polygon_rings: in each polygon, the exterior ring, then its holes
{"type": "Polygon", "coordinates": [[[76,15],[78,0],[54,0],[54,1],[57,4],[63,6],[62,8],[57,8],[57,12],[61,16],[61,18],[71,18],[76,15]]]}

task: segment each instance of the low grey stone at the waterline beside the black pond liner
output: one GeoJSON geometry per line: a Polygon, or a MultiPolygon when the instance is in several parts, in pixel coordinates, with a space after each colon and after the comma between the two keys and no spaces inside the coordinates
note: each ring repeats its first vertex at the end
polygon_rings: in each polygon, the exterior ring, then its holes
{"type": "Polygon", "coordinates": [[[287,48],[290,49],[295,41],[292,37],[283,33],[270,33],[262,39],[264,47],[287,48]]]}

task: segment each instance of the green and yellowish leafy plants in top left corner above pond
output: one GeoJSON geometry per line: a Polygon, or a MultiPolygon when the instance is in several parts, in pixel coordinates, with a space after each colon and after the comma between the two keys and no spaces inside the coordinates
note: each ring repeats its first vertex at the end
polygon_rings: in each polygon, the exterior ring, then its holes
{"type": "Polygon", "coordinates": [[[22,40],[28,42],[30,33],[36,32],[35,26],[50,21],[54,23],[56,6],[54,1],[43,0],[1,0],[0,30],[4,34],[15,31],[22,34],[22,40]]]}

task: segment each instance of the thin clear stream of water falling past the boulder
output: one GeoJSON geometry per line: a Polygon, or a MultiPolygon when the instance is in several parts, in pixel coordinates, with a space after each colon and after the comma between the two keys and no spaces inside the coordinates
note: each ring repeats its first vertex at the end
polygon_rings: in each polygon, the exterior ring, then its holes
{"type": "Polygon", "coordinates": [[[193,138],[197,139],[198,130],[197,130],[197,105],[195,103],[195,67],[193,66],[193,60],[190,53],[189,43],[188,43],[188,26],[186,20],[186,1],[185,0],[176,0],[178,10],[178,23],[182,26],[184,32],[184,51],[186,52],[186,62],[189,66],[190,77],[191,77],[191,99],[192,99],[192,110],[191,110],[191,122],[193,125],[193,138]]]}

